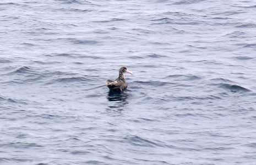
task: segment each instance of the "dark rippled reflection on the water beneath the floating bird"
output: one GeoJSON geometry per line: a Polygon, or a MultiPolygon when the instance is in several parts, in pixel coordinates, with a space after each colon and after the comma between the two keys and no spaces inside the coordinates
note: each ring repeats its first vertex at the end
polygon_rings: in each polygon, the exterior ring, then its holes
{"type": "Polygon", "coordinates": [[[127,97],[128,94],[124,91],[110,90],[107,95],[107,100],[112,103],[111,106],[108,106],[107,111],[123,111],[128,104],[127,97]]]}

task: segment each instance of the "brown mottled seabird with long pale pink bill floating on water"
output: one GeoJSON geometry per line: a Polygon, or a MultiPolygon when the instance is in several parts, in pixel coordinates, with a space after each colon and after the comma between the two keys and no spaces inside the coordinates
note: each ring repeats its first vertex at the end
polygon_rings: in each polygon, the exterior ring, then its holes
{"type": "Polygon", "coordinates": [[[124,78],[124,73],[133,74],[126,67],[121,67],[119,69],[119,76],[116,80],[107,80],[106,85],[110,90],[124,90],[127,88],[126,78],[124,78]]]}

